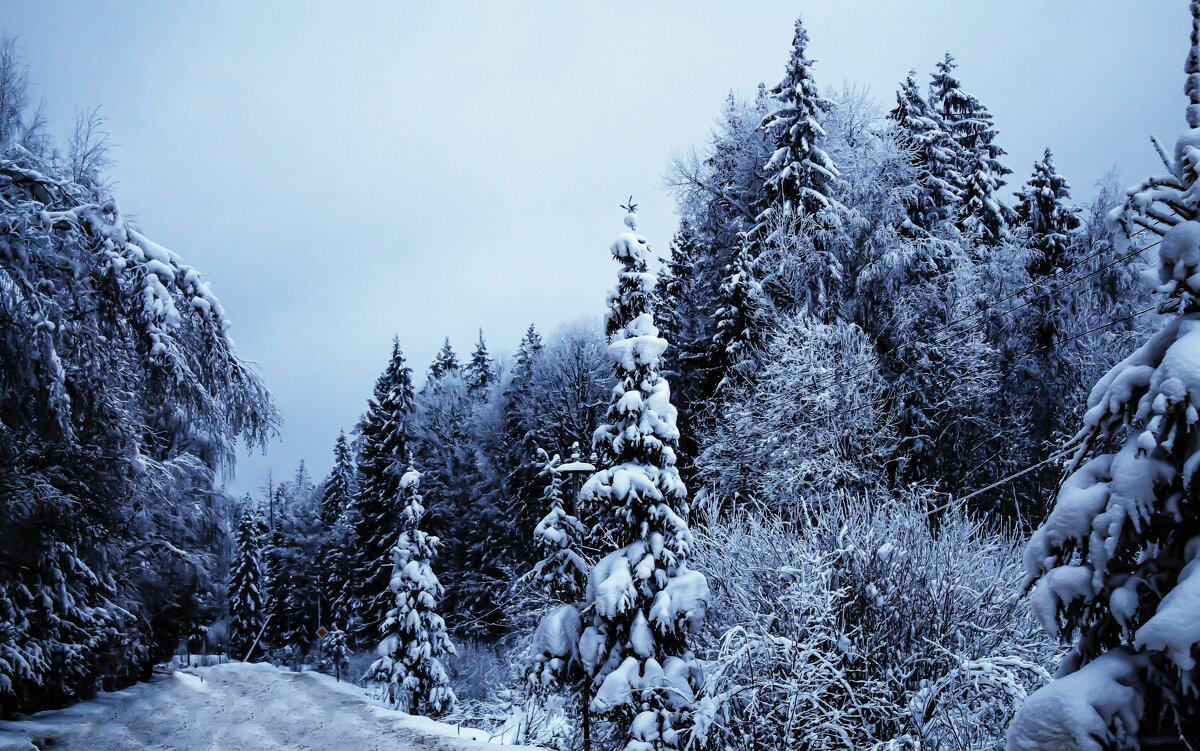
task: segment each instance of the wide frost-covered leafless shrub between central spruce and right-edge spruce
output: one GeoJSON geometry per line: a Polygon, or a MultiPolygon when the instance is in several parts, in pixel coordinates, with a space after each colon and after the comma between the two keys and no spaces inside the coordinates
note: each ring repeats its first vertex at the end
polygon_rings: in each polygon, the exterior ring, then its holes
{"type": "Polygon", "coordinates": [[[934,524],[931,500],[842,497],[804,527],[703,527],[709,744],[1002,746],[1054,647],[1019,605],[1015,542],[953,507],[934,524]]]}

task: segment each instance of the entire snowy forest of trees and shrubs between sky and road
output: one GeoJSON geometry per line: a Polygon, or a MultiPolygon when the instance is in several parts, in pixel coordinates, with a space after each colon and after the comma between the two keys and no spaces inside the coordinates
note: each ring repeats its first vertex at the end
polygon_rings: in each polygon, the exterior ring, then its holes
{"type": "Polygon", "coordinates": [[[397,322],[331,471],[244,497],[268,385],[6,40],[0,713],[196,653],[557,751],[1200,747],[1190,10],[1163,174],[1084,202],[953,54],[883,101],[797,20],[673,236],[613,202],[606,300],[428,365],[397,322]]]}

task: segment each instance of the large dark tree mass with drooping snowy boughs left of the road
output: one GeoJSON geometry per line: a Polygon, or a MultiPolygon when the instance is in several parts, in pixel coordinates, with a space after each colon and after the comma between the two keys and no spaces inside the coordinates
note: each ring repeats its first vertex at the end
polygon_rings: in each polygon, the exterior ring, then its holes
{"type": "Polygon", "coordinates": [[[0,40],[5,716],[148,677],[210,618],[214,475],[277,419],[203,276],[48,142],[14,138],[13,61],[0,40]]]}

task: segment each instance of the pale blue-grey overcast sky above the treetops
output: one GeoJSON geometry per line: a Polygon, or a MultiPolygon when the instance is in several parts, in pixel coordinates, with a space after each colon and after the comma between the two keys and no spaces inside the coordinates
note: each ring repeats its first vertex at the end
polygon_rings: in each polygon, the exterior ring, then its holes
{"type": "MultiPolygon", "coordinates": [[[[1182,0],[16,2],[53,128],[102,106],[116,196],[205,271],[286,420],[230,487],[328,471],[398,334],[511,350],[596,316],[617,204],[665,251],[662,173],[730,91],[784,71],[804,14],[822,84],[890,104],[947,50],[992,110],[1015,187],[1046,145],[1076,196],[1159,170],[1183,127],[1182,0]]],[[[1007,190],[1007,188],[1006,188],[1007,190]]]]}

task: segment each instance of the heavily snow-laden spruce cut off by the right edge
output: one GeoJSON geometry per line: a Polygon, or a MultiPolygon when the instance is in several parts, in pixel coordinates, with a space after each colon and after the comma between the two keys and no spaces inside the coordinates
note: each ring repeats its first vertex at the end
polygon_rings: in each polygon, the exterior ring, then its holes
{"type": "Polygon", "coordinates": [[[1176,317],[1092,390],[1068,476],[1026,548],[1033,611],[1074,648],[1013,721],[1013,751],[1200,739],[1200,2],[1190,10],[1189,130],[1170,174],[1111,215],[1121,246],[1139,228],[1162,236],[1153,282],[1176,317]]]}

